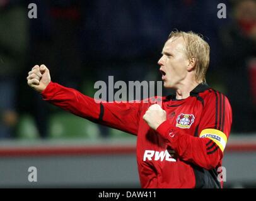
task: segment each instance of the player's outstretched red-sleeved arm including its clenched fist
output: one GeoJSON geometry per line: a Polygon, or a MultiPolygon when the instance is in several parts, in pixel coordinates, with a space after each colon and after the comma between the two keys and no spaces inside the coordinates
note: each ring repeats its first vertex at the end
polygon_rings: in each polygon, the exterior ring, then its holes
{"type": "Polygon", "coordinates": [[[78,90],[51,82],[49,70],[44,65],[33,67],[27,79],[28,85],[40,92],[43,99],[50,104],[90,121],[137,134],[140,117],[139,103],[97,103],[78,90]]]}

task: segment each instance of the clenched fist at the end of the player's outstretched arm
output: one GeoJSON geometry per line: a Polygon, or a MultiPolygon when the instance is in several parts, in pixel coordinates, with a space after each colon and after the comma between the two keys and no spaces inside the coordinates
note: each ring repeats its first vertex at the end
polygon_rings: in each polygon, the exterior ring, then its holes
{"type": "Polygon", "coordinates": [[[35,89],[37,92],[45,90],[50,83],[50,72],[45,65],[35,65],[30,72],[28,72],[28,85],[35,89]]]}

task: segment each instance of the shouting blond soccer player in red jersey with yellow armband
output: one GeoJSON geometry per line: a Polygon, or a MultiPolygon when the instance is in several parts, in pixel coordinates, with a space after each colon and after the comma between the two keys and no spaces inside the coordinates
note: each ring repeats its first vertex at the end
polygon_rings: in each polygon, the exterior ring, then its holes
{"type": "Polygon", "coordinates": [[[218,173],[232,112],[228,99],[206,84],[209,52],[207,42],[193,32],[170,34],[158,64],[164,86],[176,93],[158,97],[161,106],[151,101],[96,103],[52,82],[45,65],[35,65],[27,80],[51,104],[136,135],[141,187],[222,188],[218,173]]]}

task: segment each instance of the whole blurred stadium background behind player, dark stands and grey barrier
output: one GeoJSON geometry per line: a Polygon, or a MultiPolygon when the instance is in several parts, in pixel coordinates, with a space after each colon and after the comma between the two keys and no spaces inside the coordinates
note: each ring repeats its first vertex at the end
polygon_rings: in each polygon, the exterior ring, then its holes
{"type": "MultiPolygon", "coordinates": [[[[256,1],[0,0],[0,187],[139,187],[136,138],[45,103],[26,85],[35,64],[93,96],[97,80],[160,80],[173,29],[211,46],[207,83],[228,96],[226,188],[256,187],[256,1]],[[28,4],[37,19],[28,18],[28,4]],[[218,18],[219,3],[226,18],[218,18]],[[28,182],[37,167],[38,182],[28,182]]],[[[168,91],[164,92],[164,95],[168,91]]]]}

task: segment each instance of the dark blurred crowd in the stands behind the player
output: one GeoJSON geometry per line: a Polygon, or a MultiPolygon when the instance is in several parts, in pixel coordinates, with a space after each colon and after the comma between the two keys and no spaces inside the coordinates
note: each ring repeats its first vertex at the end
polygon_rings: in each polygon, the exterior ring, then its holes
{"type": "MultiPolygon", "coordinates": [[[[33,3],[37,19],[28,18],[30,1],[0,0],[0,138],[16,138],[23,113],[47,138],[54,110],[26,85],[33,65],[44,63],[54,82],[88,95],[109,75],[125,82],[160,80],[157,61],[174,29],[201,33],[211,46],[207,83],[230,99],[232,132],[256,131],[255,0],[33,3]],[[217,16],[219,3],[226,5],[226,18],[217,16]]],[[[107,128],[100,131],[107,136],[107,128]]]]}

